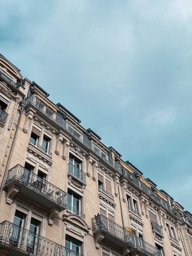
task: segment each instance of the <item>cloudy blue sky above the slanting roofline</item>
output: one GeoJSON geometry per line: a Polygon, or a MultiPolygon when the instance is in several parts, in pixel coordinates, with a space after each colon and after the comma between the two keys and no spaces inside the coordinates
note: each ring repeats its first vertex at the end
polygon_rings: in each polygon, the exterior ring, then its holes
{"type": "Polygon", "coordinates": [[[1,0],[0,53],[192,213],[191,27],[191,0],[1,0]]]}

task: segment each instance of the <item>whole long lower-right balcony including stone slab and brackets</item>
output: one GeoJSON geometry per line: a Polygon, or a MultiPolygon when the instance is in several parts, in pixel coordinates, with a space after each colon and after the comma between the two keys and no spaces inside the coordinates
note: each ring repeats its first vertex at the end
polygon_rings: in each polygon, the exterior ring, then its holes
{"type": "Polygon", "coordinates": [[[96,248],[100,246],[100,241],[105,238],[118,247],[129,247],[130,252],[139,252],[140,256],[157,256],[157,250],[154,246],[148,244],[101,214],[95,215],[95,217],[92,218],[92,231],[95,235],[96,248]]]}

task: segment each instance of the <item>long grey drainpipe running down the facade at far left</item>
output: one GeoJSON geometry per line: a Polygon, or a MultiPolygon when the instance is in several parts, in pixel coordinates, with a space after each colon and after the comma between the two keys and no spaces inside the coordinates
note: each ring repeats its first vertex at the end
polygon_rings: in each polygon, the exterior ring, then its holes
{"type": "Polygon", "coordinates": [[[3,177],[3,180],[2,180],[2,183],[1,183],[1,188],[0,188],[0,200],[1,200],[2,190],[3,190],[3,188],[4,188],[5,178],[6,178],[6,176],[7,176],[9,164],[10,164],[10,161],[11,161],[11,156],[12,156],[13,149],[14,149],[14,146],[15,146],[15,140],[16,140],[17,133],[18,133],[18,128],[19,128],[19,125],[20,125],[20,122],[21,122],[21,116],[22,116],[22,113],[23,113],[23,110],[24,110],[24,100],[25,100],[25,98],[26,98],[26,97],[23,98],[22,109],[21,109],[20,117],[19,117],[19,119],[18,119],[18,123],[17,123],[16,131],[15,131],[14,139],[13,139],[13,142],[12,142],[12,145],[11,145],[11,150],[10,150],[10,153],[9,153],[9,158],[8,158],[7,165],[6,165],[6,169],[5,169],[5,172],[4,172],[4,177],[3,177]]]}

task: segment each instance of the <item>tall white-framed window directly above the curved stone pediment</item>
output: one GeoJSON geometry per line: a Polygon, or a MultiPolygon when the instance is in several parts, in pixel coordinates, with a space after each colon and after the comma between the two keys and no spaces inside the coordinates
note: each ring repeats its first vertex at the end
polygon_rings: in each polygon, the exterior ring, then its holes
{"type": "Polygon", "coordinates": [[[73,192],[72,190],[68,189],[68,193],[67,193],[67,209],[70,210],[71,212],[81,215],[81,201],[82,198],[81,196],[79,196],[79,194],[73,192]]]}

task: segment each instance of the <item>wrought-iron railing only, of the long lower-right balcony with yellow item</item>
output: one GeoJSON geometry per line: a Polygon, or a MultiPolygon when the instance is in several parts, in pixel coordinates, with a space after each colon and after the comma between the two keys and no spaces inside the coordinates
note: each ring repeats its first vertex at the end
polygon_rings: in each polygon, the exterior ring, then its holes
{"type": "Polygon", "coordinates": [[[96,231],[99,229],[106,230],[116,238],[124,240],[125,242],[131,244],[132,247],[137,248],[140,251],[145,251],[150,255],[157,255],[157,250],[153,245],[148,244],[143,239],[130,233],[128,230],[122,228],[102,214],[92,218],[92,230],[96,231]]]}

